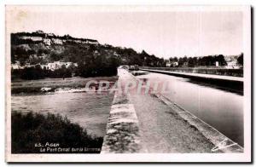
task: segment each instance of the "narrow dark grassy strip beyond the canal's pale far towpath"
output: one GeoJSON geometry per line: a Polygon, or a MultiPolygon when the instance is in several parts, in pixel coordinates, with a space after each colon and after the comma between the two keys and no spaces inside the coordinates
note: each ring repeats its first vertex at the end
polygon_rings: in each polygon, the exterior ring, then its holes
{"type": "Polygon", "coordinates": [[[221,67],[148,67],[141,68],[151,70],[164,70],[170,72],[190,72],[190,73],[204,73],[213,75],[224,75],[233,77],[243,77],[243,69],[227,69],[221,67]]]}

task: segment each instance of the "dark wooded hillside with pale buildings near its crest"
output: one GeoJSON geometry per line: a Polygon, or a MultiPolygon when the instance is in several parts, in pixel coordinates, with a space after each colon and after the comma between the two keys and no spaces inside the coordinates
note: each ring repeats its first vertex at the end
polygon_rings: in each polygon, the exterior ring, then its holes
{"type": "Polygon", "coordinates": [[[114,75],[119,65],[163,66],[164,60],[137,53],[134,49],[101,44],[94,39],[76,38],[53,33],[18,32],[11,34],[11,62],[25,70],[61,61],[75,63],[75,75],[81,77],[114,75]],[[108,71],[106,74],[106,71],[108,71]]]}

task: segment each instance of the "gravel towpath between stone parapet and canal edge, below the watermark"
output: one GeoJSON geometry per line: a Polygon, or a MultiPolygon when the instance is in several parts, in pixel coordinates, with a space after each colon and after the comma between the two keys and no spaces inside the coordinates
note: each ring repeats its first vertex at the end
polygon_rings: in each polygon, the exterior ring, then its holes
{"type": "Polygon", "coordinates": [[[211,153],[213,144],[151,95],[132,95],[142,153],[211,153]]]}

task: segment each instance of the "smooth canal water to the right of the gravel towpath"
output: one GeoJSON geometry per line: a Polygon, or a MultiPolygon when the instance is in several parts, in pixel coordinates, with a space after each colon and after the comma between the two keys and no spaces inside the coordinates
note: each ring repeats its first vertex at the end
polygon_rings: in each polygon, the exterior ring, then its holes
{"type": "Polygon", "coordinates": [[[137,78],[151,84],[166,83],[167,91],[162,95],[243,146],[242,95],[230,93],[223,88],[192,83],[188,78],[154,72],[139,75],[137,78]]]}

